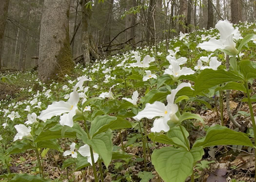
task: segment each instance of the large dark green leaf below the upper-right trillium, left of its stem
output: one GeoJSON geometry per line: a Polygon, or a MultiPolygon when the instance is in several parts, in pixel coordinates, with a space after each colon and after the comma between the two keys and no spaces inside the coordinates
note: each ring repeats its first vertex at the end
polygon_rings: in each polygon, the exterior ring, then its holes
{"type": "Polygon", "coordinates": [[[234,81],[243,81],[243,79],[239,77],[236,72],[233,71],[225,71],[224,69],[204,69],[197,76],[194,86],[195,94],[200,94],[200,92],[221,83],[234,81]]]}

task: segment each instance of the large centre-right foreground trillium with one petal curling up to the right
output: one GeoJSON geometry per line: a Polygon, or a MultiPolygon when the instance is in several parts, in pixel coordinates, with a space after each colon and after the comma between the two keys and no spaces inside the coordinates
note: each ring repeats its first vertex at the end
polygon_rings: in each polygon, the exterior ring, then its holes
{"type": "MultiPolygon", "coordinates": [[[[178,111],[177,104],[174,103],[175,96],[177,92],[182,89],[183,87],[190,87],[190,83],[181,83],[177,86],[176,89],[173,89],[171,94],[167,96],[168,104],[165,106],[164,103],[155,101],[153,104],[146,103],[146,107],[144,110],[140,111],[137,116],[133,118],[137,121],[146,117],[148,119],[153,119],[154,117],[160,116],[158,119],[155,119],[153,128],[151,129],[152,132],[168,132],[170,127],[168,126],[167,122],[171,120],[174,123],[178,122],[178,118],[176,113],[178,111]]],[[[191,88],[192,89],[192,88],[191,88]]]]}

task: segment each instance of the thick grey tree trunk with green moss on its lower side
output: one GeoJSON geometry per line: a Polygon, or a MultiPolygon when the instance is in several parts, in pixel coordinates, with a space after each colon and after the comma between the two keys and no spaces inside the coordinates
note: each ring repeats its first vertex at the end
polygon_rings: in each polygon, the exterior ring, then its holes
{"type": "Polygon", "coordinates": [[[44,0],[39,40],[39,79],[47,82],[74,68],[69,41],[69,0],[44,0]]]}

